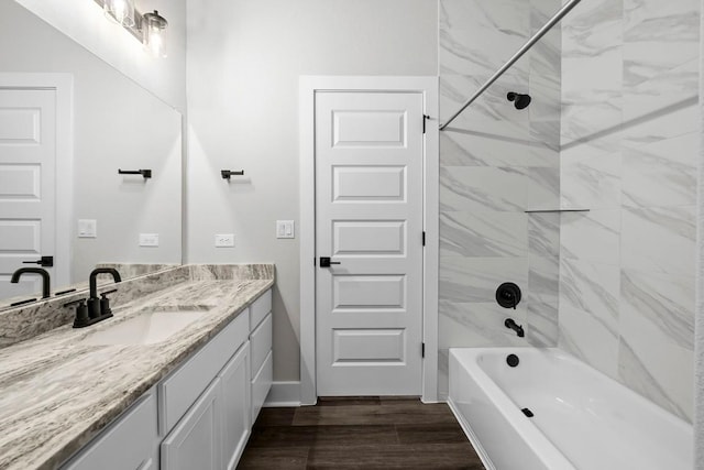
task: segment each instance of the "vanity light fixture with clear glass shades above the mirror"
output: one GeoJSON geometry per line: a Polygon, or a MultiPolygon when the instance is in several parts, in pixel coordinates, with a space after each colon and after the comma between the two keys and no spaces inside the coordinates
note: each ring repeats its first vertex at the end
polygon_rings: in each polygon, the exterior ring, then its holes
{"type": "Polygon", "coordinates": [[[154,10],[140,13],[134,0],[94,0],[102,7],[106,17],[136,37],[154,57],[166,57],[166,29],[168,22],[154,10]]]}

